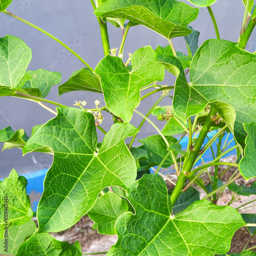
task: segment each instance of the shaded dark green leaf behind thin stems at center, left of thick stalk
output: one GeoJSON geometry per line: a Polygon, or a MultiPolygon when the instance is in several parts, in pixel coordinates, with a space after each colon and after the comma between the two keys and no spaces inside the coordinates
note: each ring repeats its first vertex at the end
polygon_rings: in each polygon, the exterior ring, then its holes
{"type": "MultiPolygon", "coordinates": [[[[169,143],[177,142],[177,139],[175,139],[172,136],[166,136],[166,139],[169,143]]],[[[168,153],[167,145],[160,135],[152,135],[138,141],[143,144],[138,148],[141,148],[142,150],[146,150],[147,152],[147,159],[139,161],[139,164],[140,164],[139,170],[148,170],[150,167],[159,165],[163,160],[163,158],[168,153]]],[[[177,156],[177,153],[175,154],[175,156],[177,156]]],[[[167,168],[172,164],[173,164],[172,156],[168,156],[164,164],[162,165],[162,168],[167,168]]]]}

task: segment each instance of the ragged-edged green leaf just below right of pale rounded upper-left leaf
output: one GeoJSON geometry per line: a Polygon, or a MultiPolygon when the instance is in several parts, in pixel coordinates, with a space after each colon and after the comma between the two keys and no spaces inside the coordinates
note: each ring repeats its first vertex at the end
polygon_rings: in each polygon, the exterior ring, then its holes
{"type": "Polygon", "coordinates": [[[19,91],[24,90],[33,96],[45,98],[50,92],[52,86],[60,83],[61,74],[59,72],[50,72],[44,69],[36,71],[27,71],[30,79],[27,80],[19,91]]]}

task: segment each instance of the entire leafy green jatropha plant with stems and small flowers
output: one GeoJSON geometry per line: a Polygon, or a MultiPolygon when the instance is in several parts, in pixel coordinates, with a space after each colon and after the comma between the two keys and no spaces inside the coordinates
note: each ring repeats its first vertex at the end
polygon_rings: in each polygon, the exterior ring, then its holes
{"type": "MultiPolygon", "coordinates": [[[[49,35],[84,63],[84,68],[59,86],[59,95],[91,91],[103,94],[105,102],[96,101],[93,109],[86,109],[86,101],[68,107],[47,100],[51,87],[60,83],[60,74],[27,71],[31,49],[15,36],[0,38],[0,96],[32,100],[56,115],[35,126],[30,138],[22,129],[0,131],[4,149],[19,147],[24,154],[54,155],[37,212],[31,209],[23,176],[12,170],[9,178],[0,182],[2,253],[82,255],[78,242],[60,242],[49,233],[68,229],[86,214],[99,233],[117,234],[117,243],[107,255],[226,255],[237,229],[247,226],[253,234],[255,215],[242,216],[229,206],[231,202],[217,205],[226,187],[240,195],[256,194],[256,184],[234,183],[240,176],[246,181],[256,177],[256,56],[244,50],[256,24],[253,0],[243,0],[238,42],[220,39],[210,7],[216,0],[189,0],[194,7],[176,0],[91,0],[105,55],[95,69],[48,32],[6,10],[11,2],[0,0],[3,15],[49,35]],[[198,16],[198,7],[207,7],[217,36],[200,47],[199,32],[189,26],[198,16]],[[110,23],[122,31],[119,49],[110,49],[110,23]],[[162,35],[167,46],[145,46],[126,59],[125,38],[135,25],[162,35]],[[184,37],[186,53],[177,52],[172,44],[172,38],[178,36],[184,37]],[[159,86],[166,71],[176,76],[176,82],[159,86]],[[143,90],[148,93],[141,97],[143,90]],[[162,95],[145,115],[137,110],[143,99],[160,91],[162,95]],[[167,96],[170,92],[172,97],[167,96]],[[164,97],[169,99],[167,106],[161,105],[164,97]],[[57,111],[45,103],[58,106],[57,111]],[[113,116],[109,131],[101,126],[104,112],[113,116]],[[151,114],[166,122],[162,131],[149,118],[151,114]],[[138,127],[130,123],[133,116],[142,118],[138,127]],[[144,122],[152,124],[156,135],[139,140],[141,145],[134,147],[144,122]],[[207,140],[213,130],[214,136],[207,140]],[[96,131],[104,134],[101,143],[96,131]],[[232,134],[235,141],[228,150],[230,142],[223,139],[226,134],[232,134]],[[184,136],[188,137],[186,151],[180,144],[184,136]],[[208,148],[213,160],[195,168],[208,148]],[[237,163],[220,161],[235,148],[237,163]],[[168,190],[163,175],[158,175],[161,167],[170,165],[177,175],[173,190],[168,190]],[[227,168],[220,172],[220,165],[227,168]],[[209,166],[215,166],[214,175],[204,184],[199,177],[209,166]],[[223,184],[221,177],[231,166],[237,171],[223,184]],[[195,187],[205,191],[203,198],[195,187]]],[[[236,255],[256,253],[244,249],[236,255]]]]}

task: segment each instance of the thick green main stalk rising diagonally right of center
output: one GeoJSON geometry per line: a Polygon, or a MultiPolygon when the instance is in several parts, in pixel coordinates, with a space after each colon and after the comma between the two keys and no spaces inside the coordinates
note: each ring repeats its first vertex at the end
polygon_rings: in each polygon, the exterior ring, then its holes
{"type": "MultiPolygon", "coordinates": [[[[217,114],[217,112],[213,108],[211,108],[211,110],[205,120],[202,131],[200,132],[198,139],[195,143],[195,146],[193,147],[193,151],[189,152],[189,157],[184,162],[182,173],[178,177],[178,180],[177,180],[177,183],[176,183],[176,186],[174,188],[172,195],[170,195],[170,200],[172,201],[172,205],[175,204],[176,200],[178,199],[179,195],[182,192],[182,188],[186,181],[186,176],[184,175],[184,173],[189,173],[190,170],[192,169],[194,162],[196,161],[196,159],[199,155],[199,152],[200,152],[201,146],[204,142],[204,139],[205,139],[207,133],[209,132],[210,126],[213,124],[211,118],[216,116],[216,114],[217,114]]],[[[189,131],[189,132],[191,132],[191,131],[189,131]]]]}

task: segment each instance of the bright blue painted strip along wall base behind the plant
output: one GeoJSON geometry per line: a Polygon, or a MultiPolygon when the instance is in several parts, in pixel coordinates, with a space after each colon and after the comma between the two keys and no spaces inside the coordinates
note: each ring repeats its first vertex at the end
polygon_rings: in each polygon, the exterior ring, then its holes
{"type": "MultiPolygon", "coordinates": [[[[216,131],[213,132],[214,134],[216,133],[216,131]]],[[[208,138],[211,139],[213,136],[212,133],[208,133],[208,138]]],[[[227,135],[225,135],[227,136],[227,135]]],[[[224,136],[223,138],[223,143],[226,139],[226,137],[224,136]]],[[[232,135],[229,134],[229,138],[228,141],[230,141],[232,139],[232,135]]],[[[208,142],[208,139],[206,139],[204,141],[204,144],[208,142]]],[[[187,147],[187,143],[188,143],[188,138],[184,137],[181,141],[180,144],[182,146],[182,150],[186,150],[187,147]]],[[[227,142],[228,143],[228,142],[227,142]]],[[[226,150],[230,147],[234,146],[234,141],[232,141],[228,147],[226,148],[226,150]]],[[[214,144],[212,144],[212,147],[214,149],[214,151],[216,151],[216,143],[214,142],[214,144]]],[[[231,155],[236,155],[236,150],[233,150],[231,152],[229,152],[226,156],[231,156],[231,155]]],[[[212,154],[211,154],[211,150],[210,148],[205,152],[203,159],[205,162],[211,161],[212,160],[212,154]]],[[[200,165],[202,163],[201,160],[199,160],[197,162],[196,165],[200,165]]],[[[42,191],[44,191],[44,179],[46,176],[48,169],[42,169],[42,170],[37,170],[36,172],[31,172],[31,173],[26,173],[23,174],[23,176],[28,180],[28,185],[27,185],[27,193],[29,194],[30,198],[31,198],[31,207],[33,209],[33,211],[36,211],[37,205],[38,205],[38,200],[42,194],[42,191]]],[[[172,168],[169,167],[168,172],[174,172],[174,170],[172,168]]],[[[152,170],[152,173],[154,173],[154,171],[152,170]]],[[[167,172],[165,172],[167,173],[167,172]]]]}

